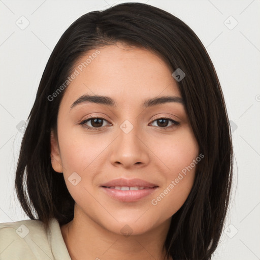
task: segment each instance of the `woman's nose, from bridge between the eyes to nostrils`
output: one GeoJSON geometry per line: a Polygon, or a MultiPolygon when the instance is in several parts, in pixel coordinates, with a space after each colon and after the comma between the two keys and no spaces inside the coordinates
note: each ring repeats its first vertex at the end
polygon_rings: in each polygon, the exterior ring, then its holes
{"type": "MultiPolygon", "coordinates": [[[[129,125],[126,125],[126,128],[129,125]]],[[[118,129],[118,136],[111,146],[110,162],[125,169],[142,168],[149,163],[149,147],[144,135],[134,126],[127,133],[123,125],[118,129]]]]}

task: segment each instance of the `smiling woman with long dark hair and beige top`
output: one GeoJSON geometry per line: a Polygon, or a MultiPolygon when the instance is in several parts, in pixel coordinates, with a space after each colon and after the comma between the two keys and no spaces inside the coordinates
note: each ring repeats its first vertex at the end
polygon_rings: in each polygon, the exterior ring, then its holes
{"type": "Polygon", "coordinates": [[[61,36],[21,144],[31,220],[0,224],[1,259],[210,259],[229,205],[228,115],[206,49],[140,3],[61,36]]]}

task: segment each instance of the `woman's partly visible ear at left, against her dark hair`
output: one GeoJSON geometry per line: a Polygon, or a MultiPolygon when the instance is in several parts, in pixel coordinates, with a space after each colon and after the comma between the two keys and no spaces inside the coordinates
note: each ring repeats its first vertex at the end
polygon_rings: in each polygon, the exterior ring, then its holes
{"type": "Polygon", "coordinates": [[[50,142],[51,142],[51,165],[55,172],[62,173],[62,164],[61,164],[61,157],[59,153],[59,145],[57,137],[51,129],[51,136],[50,136],[50,142]]]}

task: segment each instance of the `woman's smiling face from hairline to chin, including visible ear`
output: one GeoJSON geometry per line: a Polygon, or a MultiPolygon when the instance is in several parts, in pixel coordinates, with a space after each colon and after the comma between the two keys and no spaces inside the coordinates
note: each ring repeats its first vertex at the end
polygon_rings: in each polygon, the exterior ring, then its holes
{"type": "Polygon", "coordinates": [[[169,226],[188,197],[199,156],[172,69],[146,49],[118,43],[89,51],[74,72],[51,157],[75,216],[117,234],[169,226]],[[166,96],[172,99],[160,99],[166,96]]]}

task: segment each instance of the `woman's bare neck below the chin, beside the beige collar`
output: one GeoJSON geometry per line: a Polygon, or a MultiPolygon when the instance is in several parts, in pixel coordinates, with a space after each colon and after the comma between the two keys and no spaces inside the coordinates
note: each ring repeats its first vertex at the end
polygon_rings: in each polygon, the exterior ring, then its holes
{"type": "Polygon", "coordinates": [[[164,243],[170,221],[145,234],[126,236],[108,231],[86,215],[75,214],[71,222],[61,226],[61,233],[72,260],[166,260],[164,243]]]}

